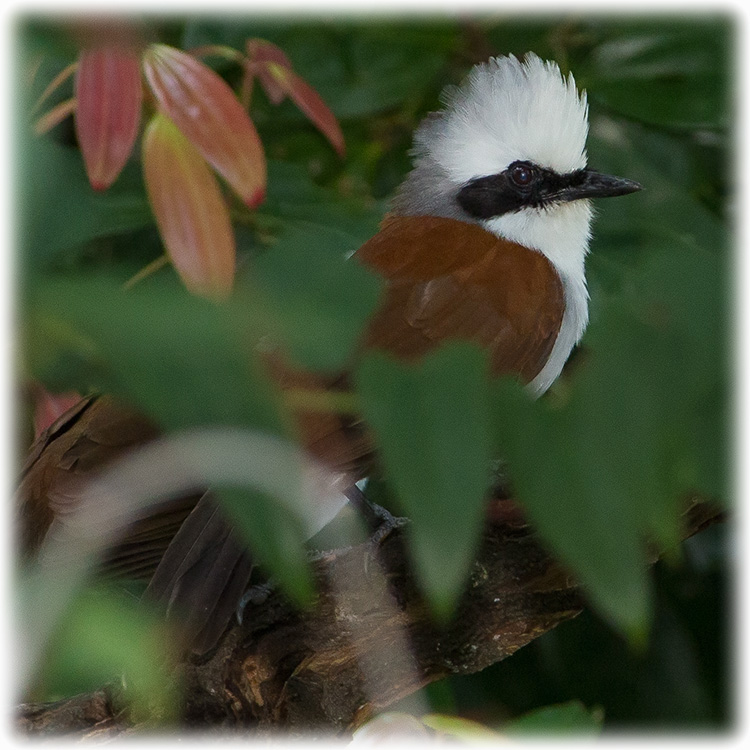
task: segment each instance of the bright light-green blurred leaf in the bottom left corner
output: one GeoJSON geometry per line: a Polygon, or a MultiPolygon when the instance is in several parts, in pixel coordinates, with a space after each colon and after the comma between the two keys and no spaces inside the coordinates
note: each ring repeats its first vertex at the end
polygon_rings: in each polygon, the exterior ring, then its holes
{"type": "Polygon", "coordinates": [[[164,720],[176,713],[174,634],[161,617],[129,594],[87,589],[71,602],[44,664],[48,699],[114,684],[135,717],[164,720]]]}

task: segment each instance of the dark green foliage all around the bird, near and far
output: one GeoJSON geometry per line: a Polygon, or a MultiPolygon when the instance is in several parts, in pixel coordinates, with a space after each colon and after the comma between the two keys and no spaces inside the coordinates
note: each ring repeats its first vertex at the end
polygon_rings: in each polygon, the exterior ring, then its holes
{"type": "MultiPolygon", "coordinates": [[[[447,347],[413,367],[366,358],[356,395],[384,469],[372,487],[379,502],[395,497],[413,517],[420,579],[446,614],[477,538],[486,459],[501,455],[519,500],[594,609],[653,656],[646,664],[587,614],[476,682],[464,678],[455,696],[445,688],[454,709],[476,706],[499,721],[580,699],[618,724],[679,725],[693,710],[696,721],[726,721],[717,614],[725,611],[706,590],[723,580],[723,544],[714,580],[691,568],[676,540],[688,497],[731,499],[734,26],[711,16],[155,23],[154,35],[186,48],[241,49],[249,37],[278,44],[341,120],[347,158],[291,103],[273,107],[256,86],[251,111],[270,158],[268,198],[254,214],[237,213],[237,290],[215,305],[190,297],[171,270],[122,290],[160,252],[137,157],[95,195],[70,130],[34,140],[24,112],[19,369],[54,391],[112,392],[168,431],[224,424],[287,434],[257,342],[271,336],[314,370],[349,366],[379,285],[344,256],[377,230],[408,169],[414,127],[473,62],[527,50],[554,58],[588,89],[591,165],[645,186],[597,206],[581,351],[539,402],[517,384],[488,384],[469,347],[447,347]],[[653,544],[675,566],[655,581],[645,554],[653,544]],[[697,587],[695,600],[680,589],[681,571],[685,586],[697,587]],[[622,684],[608,682],[613,672],[622,684]],[[648,700],[627,697],[641,691],[648,700]],[[504,707],[487,710],[488,694],[504,707]]],[[[22,60],[49,50],[47,71],[50,60],[59,70],[73,59],[55,24],[22,24],[20,32],[22,60]]],[[[215,67],[237,83],[232,66],[215,67]]],[[[258,504],[237,489],[224,497],[239,525],[252,526],[269,570],[304,598],[293,524],[280,522],[273,499],[258,504]]],[[[544,731],[555,717],[555,726],[576,731],[598,725],[598,714],[568,704],[527,715],[516,728],[544,731]]]]}

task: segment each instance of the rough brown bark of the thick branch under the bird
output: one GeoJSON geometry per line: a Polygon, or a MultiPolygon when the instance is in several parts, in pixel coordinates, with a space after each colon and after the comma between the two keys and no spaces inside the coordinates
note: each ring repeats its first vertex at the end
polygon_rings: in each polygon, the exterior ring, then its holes
{"type": "MultiPolygon", "coordinates": [[[[252,605],[201,663],[182,666],[184,726],[345,732],[449,674],[477,672],[575,617],[575,581],[540,546],[515,506],[500,502],[453,621],[437,627],[409,574],[403,527],[375,545],[317,554],[316,607],[278,592],[252,605]]],[[[688,537],[721,518],[708,503],[685,514],[688,537]]],[[[96,737],[133,730],[107,689],[25,704],[28,735],[96,737]]]]}

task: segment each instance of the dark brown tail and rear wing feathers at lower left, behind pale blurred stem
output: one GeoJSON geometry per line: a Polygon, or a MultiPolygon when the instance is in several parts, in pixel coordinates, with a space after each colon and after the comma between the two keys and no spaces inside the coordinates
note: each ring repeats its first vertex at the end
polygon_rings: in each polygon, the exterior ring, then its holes
{"type": "MultiPolygon", "coordinates": [[[[54,518],[79,502],[87,480],[157,436],[142,415],[106,397],[83,399],[35,442],[16,505],[21,554],[39,548],[54,518]]],[[[210,649],[245,590],[252,560],[209,493],[160,503],[106,551],[100,573],[149,581],[147,596],[183,625],[198,653],[210,649]]]]}

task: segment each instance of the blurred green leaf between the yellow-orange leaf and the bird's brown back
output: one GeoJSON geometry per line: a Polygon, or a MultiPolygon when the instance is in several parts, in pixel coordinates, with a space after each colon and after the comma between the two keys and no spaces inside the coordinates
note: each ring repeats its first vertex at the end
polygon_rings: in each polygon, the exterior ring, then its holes
{"type": "Polygon", "coordinates": [[[381,283],[346,256],[358,244],[336,230],[287,231],[256,260],[253,276],[293,359],[335,371],[351,361],[381,283]]]}

